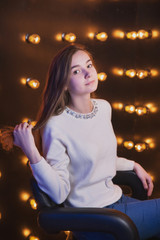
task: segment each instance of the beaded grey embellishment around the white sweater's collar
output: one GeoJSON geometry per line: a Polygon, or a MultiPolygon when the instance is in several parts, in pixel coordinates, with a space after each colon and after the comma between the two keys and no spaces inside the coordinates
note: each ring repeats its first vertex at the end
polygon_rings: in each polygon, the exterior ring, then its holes
{"type": "Polygon", "coordinates": [[[93,103],[93,110],[90,113],[84,114],[84,113],[77,113],[73,110],[71,110],[70,108],[66,107],[65,111],[67,114],[72,115],[75,118],[80,118],[80,119],[91,119],[93,118],[96,113],[98,112],[98,106],[97,106],[97,102],[95,100],[92,100],[93,103]]]}

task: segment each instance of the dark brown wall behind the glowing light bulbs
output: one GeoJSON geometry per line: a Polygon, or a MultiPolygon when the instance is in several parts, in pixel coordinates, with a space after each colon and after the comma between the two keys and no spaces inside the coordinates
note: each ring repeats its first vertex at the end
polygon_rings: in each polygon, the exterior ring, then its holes
{"type": "MultiPolygon", "coordinates": [[[[144,116],[128,114],[113,108],[113,127],[117,136],[124,140],[141,142],[153,138],[155,147],[143,152],[118,146],[119,156],[134,159],[146,168],[155,179],[153,197],[159,197],[159,119],[160,95],[159,75],[145,79],[128,78],[113,74],[113,68],[157,69],[160,71],[160,37],[144,40],[116,39],[112,32],[138,31],[139,29],[160,31],[160,4],[148,1],[105,0],[15,0],[0,1],[0,125],[15,125],[24,117],[35,119],[40,106],[49,63],[54,54],[66,42],[58,42],[54,36],[59,32],[73,32],[76,42],[85,44],[93,53],[99,72],[108,78],[99,83],[97,95],[111,104],[144,105],[152,102],[156,113],[144,116]],[[90,40],[89,31],[108,34],[105,42],[90,40]],[[21,36],[37,33],[41,37],[38,45],[21,41],[21,36]],[[40,81],[37,90],[20,84],[21,77],[33,77],[40,81]]],[[[3,240],[25,239],[22,229],[28,227],[40,239],[46,239],[36,225],[36,211],[28,202],[20,200],[19,193],[30,193],[30,170],[21,162],[23,153],[14,149],[6,153],[0,149],[0,220],[3,240]]],[[[63,239],[64,234],[54,239],[63,239]]],[[[48,236],[47,239],[50,239],[48,236]]]]}

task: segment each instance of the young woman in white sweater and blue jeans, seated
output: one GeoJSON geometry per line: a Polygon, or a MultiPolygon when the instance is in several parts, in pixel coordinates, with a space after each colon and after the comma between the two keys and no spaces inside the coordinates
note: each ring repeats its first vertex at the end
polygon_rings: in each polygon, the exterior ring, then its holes
{"type": "MultiPolygon", "coordinates": [[[[146,239],[160,233],[160,200],[127,198],[112,183],[117,170],[134,170],[148,196],[153,190],[151,177],[138,163],[117,157],[110,104],[91,98],[97,85],[91,54],[76,44],[62,49],[49,69],[37,125],[17,125],[14,144],[24,151],[39,187],[54,202],[118,209],[146,239]],[[33,133],[40,133],[41,142],[33,133]]],[[[75,235],[81,240],[109,239],[104,233],[75,235]]]]}

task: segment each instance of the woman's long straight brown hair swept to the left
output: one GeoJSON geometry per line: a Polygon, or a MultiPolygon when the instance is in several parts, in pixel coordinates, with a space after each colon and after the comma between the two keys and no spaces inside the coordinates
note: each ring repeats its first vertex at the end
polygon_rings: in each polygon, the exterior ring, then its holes
{"type": "Polygon", "coordinates": [[[34,130],[40,129],[50,116],[60,114],[69,103],[70,96],[66,87],[70,78],[70,65],[73,54],[79,50],[87,52],[92,58],[83,45],[70,44],[58,52],[52,60],[34,130]]]}

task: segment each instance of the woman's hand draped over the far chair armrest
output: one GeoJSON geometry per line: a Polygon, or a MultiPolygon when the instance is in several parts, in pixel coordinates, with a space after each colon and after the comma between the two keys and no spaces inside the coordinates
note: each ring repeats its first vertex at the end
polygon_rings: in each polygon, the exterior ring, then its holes
{"type": "Polygon", "coordinates": [[[139,179],[142,181],[144,189],[147,190],[147,195],[151,196],[153,192],[153,182],[151,176],[144,170],[144,168],[135,162],[134,171],[136,172],[139,179]]]}

